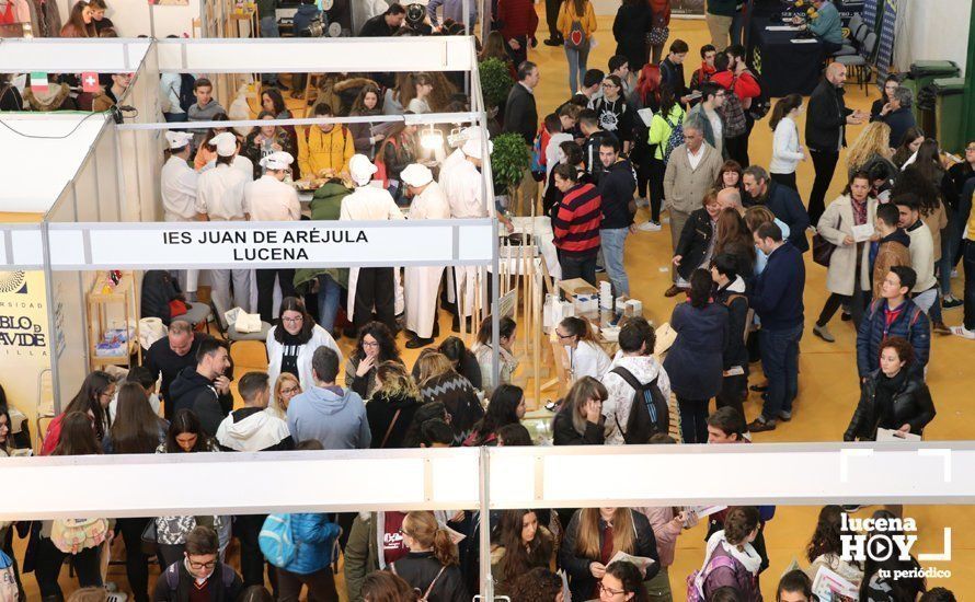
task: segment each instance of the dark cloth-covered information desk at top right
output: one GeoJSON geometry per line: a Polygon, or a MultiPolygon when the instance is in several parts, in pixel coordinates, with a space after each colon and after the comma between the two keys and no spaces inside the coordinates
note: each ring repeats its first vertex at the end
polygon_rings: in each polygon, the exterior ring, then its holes
{"type": "Polygon", "coordinates": [[[768,31],[782,27],[780,21],[753,18],[748,42],[748,66],[761,77],[765,93],[782,97],[799,93],[808,96],[819,83],[823,70],[823,44],[798,38],[799,32],[768,31]]]}

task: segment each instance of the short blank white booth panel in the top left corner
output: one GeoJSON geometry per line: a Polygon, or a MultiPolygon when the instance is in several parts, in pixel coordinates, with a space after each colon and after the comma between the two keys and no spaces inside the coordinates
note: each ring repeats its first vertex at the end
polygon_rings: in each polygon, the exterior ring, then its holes
{"type": "Polygon", "coordinates": [[[4,38],[0,72],[133,73],[151,43],[141,38],[4,38]]]}

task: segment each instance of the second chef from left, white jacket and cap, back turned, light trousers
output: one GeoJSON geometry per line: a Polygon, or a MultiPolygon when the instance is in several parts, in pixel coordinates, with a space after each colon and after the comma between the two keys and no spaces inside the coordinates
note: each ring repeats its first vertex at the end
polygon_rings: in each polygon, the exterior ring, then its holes
{"type": "MultiPolygon", "coordinates": [[[[244,208],[244,186],[250,178],[241,170],[233,169],[237,154],[237,138],[229,131],[211,139],[217,147],[217,166],[199,174],[196,184],[196,219],[199,221],[245,221],[249,216],[244,208]]],[[[214,288],[214,304],[222,316],[231,308],[250,312],[251,270],[211,269],[210,283],[214,288]],[[230,282],[233,279],[231,305],[230,282]]]]}

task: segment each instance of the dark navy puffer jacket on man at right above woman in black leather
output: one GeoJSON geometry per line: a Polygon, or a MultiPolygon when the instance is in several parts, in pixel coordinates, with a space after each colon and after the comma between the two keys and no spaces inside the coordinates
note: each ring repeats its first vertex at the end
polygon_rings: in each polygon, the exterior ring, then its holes
{"type": "Polygon", "coordinates": [[[857,333],[857,371],[860,378],[880,368],[880,346],[892,336],[899,336],[910,343],[915,355],[911,373],[924,375],[925,366],[928,364],[928,357],[931,354],[931,327],[928,316],[915,305],[914,301],[907,299],[904,301],[904,310],[887,326],[886,309],[885,299],[873,301],[860,323],[860,332],[857,333]]]}

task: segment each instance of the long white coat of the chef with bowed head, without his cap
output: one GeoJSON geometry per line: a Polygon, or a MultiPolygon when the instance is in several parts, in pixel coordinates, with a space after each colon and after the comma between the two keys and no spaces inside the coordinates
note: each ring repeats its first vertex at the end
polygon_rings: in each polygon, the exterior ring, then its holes
{"type": "MultiPolygon", "coordinates": [[[[431,182],[410,205],[411,220],[444,220],[450,217],[450,204],[440,185],[431,182]]],[[[437,320],[437,291],[444,266],[410,266],[406,281],[406,329],[420,338],[433,336],[437,320]]]]}

